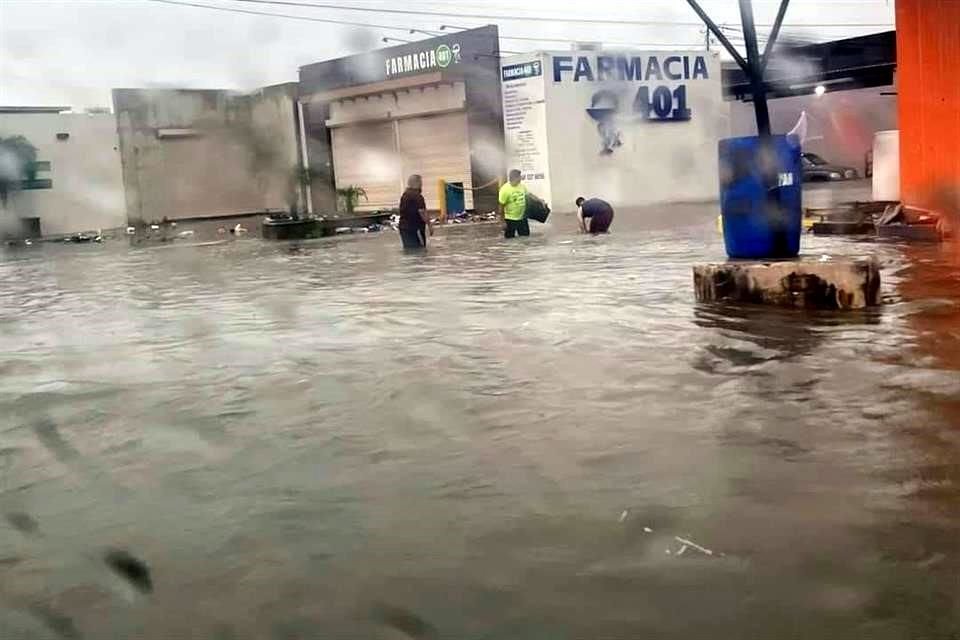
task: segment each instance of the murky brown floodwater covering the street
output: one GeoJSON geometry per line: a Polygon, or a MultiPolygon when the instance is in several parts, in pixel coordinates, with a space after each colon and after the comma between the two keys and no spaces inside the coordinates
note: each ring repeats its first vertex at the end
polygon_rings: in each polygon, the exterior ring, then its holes
{"type": "Polygon", "coordinates": [[[710,307],[663,226],[4,254],[0,637],[960,637],[950,254],[710,307]]]}

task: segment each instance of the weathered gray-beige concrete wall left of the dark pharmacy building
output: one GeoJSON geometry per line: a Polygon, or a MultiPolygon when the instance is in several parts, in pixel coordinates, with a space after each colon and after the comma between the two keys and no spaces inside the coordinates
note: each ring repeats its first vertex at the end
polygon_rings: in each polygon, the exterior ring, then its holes
{"type": "Polygon", "coordinates": [[[288,208],[295,95],[293,83],[248,95],[115,89],[131,223],[288,208]]]}

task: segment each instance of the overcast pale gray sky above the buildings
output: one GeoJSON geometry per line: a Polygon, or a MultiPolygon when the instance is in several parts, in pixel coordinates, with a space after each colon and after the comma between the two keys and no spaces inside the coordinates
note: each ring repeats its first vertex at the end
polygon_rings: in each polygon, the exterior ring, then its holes
{"type": "MultiPolygon", "coordinates": [[[[237,0],[182,0],[195,4],[346,20],[397,30],[306,22],[150,0],[0,0],[0,104],[109,106],[111,87],[190,87],[249,90],[296,80],[301,65],[387,46],[385,36],[422,39],[410,28],[437,30],[496,23],[501,36],[577,41],[702,46],[697,26],[598,25],[464,18],[508,14],[552,18],[696,22],[684,0],[313,0],[365,9],[414,9],[449,17],[252,4],[237,0]],[[522,7],[518,9],[517,7],[522,7]],[[460,17],[458,17],[460,16],[460,17]]],[[[310,0],[292,0],[309,2],[310,0]]],[[[721,23],[739,25],[736,0],[701,0],[721,23]]],[[[776,0],[754,0],[757,22],[771,23],[776,0]]],[[[892,28],[893,0],[793,0],[784,34],[822,41],[892,28]],[[805,28],[802,25],[889,26],[805,28]]],[[[759,31],[765,33],[768,27],[759,31]]],[[[507,50],[569,49],[569,42],[503,39],[507,50]]]]}

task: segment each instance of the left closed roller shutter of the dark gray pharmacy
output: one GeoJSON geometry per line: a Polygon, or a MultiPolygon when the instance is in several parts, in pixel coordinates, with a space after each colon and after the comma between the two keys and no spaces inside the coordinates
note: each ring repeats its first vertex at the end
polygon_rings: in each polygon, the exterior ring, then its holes
{"type": "Polygon", "coordinates": [[[331,135],[337,188],[363,187],[367,199],[361,198],[360,211],[396,207],[402,182],[394,123],[338,127],[331,135]]]}

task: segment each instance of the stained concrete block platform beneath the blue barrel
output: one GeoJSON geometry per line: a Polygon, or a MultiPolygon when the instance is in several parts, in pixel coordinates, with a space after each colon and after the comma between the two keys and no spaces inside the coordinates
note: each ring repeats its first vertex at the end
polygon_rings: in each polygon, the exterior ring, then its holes
{"type": "Polygon", "coordinates": [[[699,302],[745,302],[798,309],[863,309],[880,304],[874,258],[798,258],[697,265],[699,302]]]}

